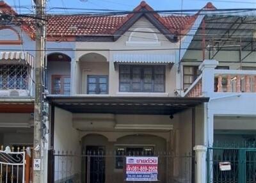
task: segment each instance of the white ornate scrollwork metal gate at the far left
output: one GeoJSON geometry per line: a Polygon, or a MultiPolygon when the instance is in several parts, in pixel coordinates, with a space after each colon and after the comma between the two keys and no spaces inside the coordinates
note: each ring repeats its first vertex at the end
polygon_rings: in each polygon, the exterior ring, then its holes
{"type": "Polygon", "coordinates": [[[25,152],[0,150],[0,182],[25,182],[25,152]]]}

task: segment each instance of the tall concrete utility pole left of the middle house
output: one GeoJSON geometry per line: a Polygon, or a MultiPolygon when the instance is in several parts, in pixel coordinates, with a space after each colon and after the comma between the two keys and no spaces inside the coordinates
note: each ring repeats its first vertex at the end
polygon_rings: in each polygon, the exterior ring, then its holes
{"type": "Polygon", "coordinates": [[[36,51],[35,51],[35,113],[34,113],[34,151],[33,182],[43,182],[44,136],[42,132],[43,109],[43,66],[45,48],[45,0],[34,0],[36,4],[36,51]]]}

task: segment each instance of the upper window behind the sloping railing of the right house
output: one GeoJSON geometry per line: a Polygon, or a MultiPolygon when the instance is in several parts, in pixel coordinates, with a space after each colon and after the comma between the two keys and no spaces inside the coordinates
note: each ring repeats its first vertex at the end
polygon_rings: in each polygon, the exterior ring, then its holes
{"type": "Polygon", "coordinates": [[[189,88],[199,74],[198,66],[183,66],[183,88],[189,88]]]}

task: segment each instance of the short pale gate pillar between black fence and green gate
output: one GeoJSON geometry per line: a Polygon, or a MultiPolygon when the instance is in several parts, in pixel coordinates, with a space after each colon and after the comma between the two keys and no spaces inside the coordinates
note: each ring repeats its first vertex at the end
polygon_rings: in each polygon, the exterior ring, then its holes
{"type": "Polygon", "coordinates": [[[195,154],[196,154],[196,170],[195,170],[195,183],[205,183],[206,182],[206,152],[207,148],[203,145],[196,145],[194,147],[195,154]]]}

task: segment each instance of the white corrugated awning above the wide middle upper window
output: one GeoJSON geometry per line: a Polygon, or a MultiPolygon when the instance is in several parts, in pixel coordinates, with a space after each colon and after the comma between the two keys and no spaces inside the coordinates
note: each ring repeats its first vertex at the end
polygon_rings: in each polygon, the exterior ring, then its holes
{"type": "Polygon", "coordinates": [[[170,65],[175,63],[175,54],[113,54],[115,69],[118,64],[170,65]]]}

